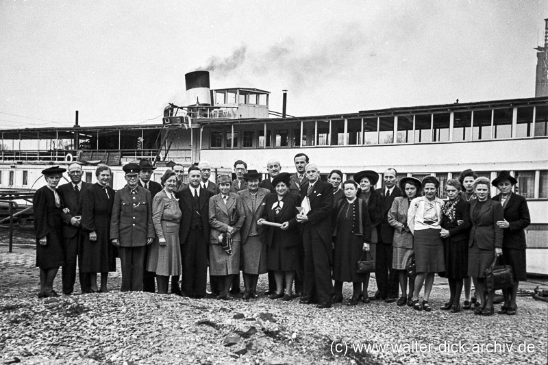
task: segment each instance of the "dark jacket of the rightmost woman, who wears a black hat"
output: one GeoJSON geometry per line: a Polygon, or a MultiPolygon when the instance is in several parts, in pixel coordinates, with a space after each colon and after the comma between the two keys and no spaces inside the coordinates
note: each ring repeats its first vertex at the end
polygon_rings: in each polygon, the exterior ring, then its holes
{"type": "MultiPolygon", "coordinates": [[[[500,203],[501,194],[495,196],[493,200],[500,203]]],[[[518,250],[526,249],[527,241],[525,240],[525,231],[523,229],[531,223],[527,201],[521,195],[512,192],[503,210],[504,219],[508,221],[510,227],[503,229],[502,247],[518,250]]]]}

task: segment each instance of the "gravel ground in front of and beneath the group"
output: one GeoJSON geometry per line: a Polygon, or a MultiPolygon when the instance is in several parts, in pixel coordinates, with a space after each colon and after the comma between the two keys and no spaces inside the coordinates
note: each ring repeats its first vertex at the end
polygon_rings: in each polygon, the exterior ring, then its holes
{"type": "Polygon", "coordinates": [[[546,303],[520,297],[516,316],[451,314],[438,309],[449,292],[438,277],[429,313],[384,301],[319,310],[264,296],[121,293],[119,274],[108,294],[39,300],[34,249],[7,251],[0,246],[3,364],[547,364],[546,303]]]}

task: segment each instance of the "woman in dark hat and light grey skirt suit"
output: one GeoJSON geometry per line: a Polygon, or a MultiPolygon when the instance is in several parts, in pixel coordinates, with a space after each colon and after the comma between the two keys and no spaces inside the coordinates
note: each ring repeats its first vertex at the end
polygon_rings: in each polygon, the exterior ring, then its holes
{"type": "Polygon", "coordinates": [[[392,268],[397,270],[401,297],[398,306],[413,305],[414,277],[408,277],[406,264],[413,254],[413,235],[407,225],[407,214],[411,201],[422,194],[421,180],[414,177],[403,177],[399,181],[403,197],[396,197],[388,211],[388,223],[394,227],[392,268]],[[409,286],[409,295],[407,288],[409,286]]]}

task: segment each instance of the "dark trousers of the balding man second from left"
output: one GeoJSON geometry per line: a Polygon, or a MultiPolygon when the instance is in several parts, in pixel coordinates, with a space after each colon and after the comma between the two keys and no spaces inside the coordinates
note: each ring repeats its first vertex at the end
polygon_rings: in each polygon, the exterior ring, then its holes
{"type": "MultiPolygon", "coordinates": [[[[61,271],[61,280],[64,294],[72,294],[76,282],[76,263],[79,245],[81,244],[80,231],[72,238],[63,238],[64,266],[61,271]]],[[[79,273],[80,288],[86,293],[91,290],[89,274],[79,273]]]]}

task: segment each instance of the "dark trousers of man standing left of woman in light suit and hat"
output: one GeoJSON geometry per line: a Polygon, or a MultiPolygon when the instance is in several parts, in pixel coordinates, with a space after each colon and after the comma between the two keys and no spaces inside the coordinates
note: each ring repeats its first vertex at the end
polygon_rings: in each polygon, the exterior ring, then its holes
{"type": "Polygon", "coordinates": [[[393,255],[392,243],[377,243],[375,278],[377,279],[377,288],[381,299],[398,297],[399,280],[397,270],[392,268],[393,255]]]}

